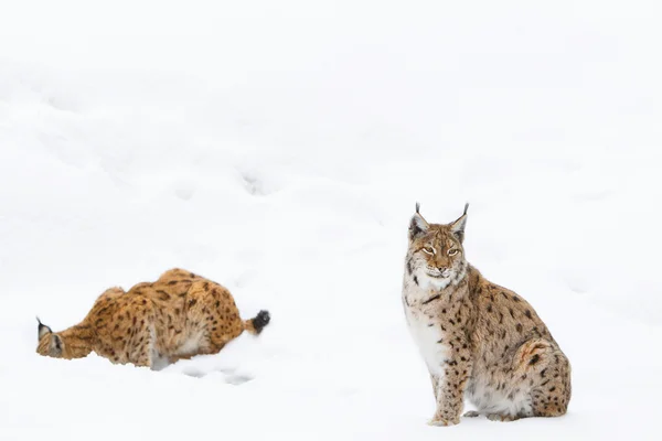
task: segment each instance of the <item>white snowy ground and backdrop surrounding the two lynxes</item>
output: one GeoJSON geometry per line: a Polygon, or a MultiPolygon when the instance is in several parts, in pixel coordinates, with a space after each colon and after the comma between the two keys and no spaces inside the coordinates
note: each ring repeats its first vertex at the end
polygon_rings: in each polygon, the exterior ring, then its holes
{"type": "MultiPolygon", "coordinates": [[[[660,439],[662,7],[0,2],[0,440],[660,439]],[[426,426],[415,202],[525,297],[567,416],[426,426]],[[35,354],[183,267],[258,338],[160,372],[35,354]]],[[[468,406],[467,409],[470,409],[468,406]]]]}

